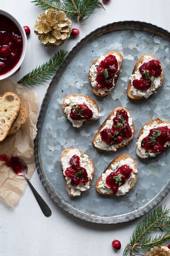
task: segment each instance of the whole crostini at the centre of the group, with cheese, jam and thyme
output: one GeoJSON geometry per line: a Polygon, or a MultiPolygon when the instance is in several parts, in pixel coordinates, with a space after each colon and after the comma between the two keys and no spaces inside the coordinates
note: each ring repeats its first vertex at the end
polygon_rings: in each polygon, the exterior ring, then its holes
{"type": "Polygon", "coordinates": [[[134,135],[134,125],[130,112],[123,107],[115,108],[106,118],[94,136],[95,148],[106,151],[117,151],[128,145],[134,135]]]}

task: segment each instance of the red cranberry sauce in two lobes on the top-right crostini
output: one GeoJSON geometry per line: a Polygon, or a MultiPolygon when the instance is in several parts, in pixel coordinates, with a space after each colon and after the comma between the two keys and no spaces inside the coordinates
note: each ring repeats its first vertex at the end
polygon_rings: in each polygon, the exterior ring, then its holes
{"type": "Polygon", "coordinates": [[[132,84],[135,88],[140,90],[147,90],[151,86],[151,81],[143,75],[143,72],[146,71],[150,77],[157,77],[161,75],[162,69],[160,66],[159,60],[152,59],[146,63],[143,63],[139,68],[139,72],[142,75],[141,79],[134,79],[132,84]]]}

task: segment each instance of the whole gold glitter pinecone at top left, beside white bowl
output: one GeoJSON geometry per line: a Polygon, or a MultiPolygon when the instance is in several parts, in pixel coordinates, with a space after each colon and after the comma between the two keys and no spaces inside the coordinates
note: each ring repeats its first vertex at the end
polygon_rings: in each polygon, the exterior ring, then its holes
{"type": "Polygon", "coordinates": [[[34,33],[45,46],[62,45],[70,37],[71,24],[64,12],[48,9],[38,15],[34,33]]]}

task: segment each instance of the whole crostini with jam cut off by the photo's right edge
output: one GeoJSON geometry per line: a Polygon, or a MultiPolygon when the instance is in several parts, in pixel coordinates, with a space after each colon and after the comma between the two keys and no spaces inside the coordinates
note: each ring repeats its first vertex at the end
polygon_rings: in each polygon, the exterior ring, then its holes
{"type": "Polygon", "coordinates": [[[159,118],[144,125],[137,137],[136,153],[141,158],[155,157],[170,147],[170,123],[159,118]]]}

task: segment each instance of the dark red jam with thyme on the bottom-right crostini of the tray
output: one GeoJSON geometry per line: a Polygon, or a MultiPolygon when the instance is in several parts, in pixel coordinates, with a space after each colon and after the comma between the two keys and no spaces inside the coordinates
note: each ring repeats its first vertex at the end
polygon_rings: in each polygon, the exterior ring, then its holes
{"type": "Polygon", "coordinates": [[[117,171],[111,172],[105,180],[106,185],[112,189],[115,195],[118,192],[119,187],[124,185],[125,181],[131,178],[132,169],[127,165],[120,166],[117,171]]]}

